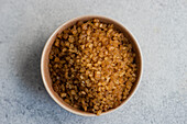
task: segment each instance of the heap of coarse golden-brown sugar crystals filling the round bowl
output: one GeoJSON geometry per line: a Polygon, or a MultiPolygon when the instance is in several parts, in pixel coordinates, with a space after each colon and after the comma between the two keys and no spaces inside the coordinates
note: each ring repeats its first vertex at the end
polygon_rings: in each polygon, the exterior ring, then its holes
{"type": "Polygon", "coordinates": [[[134,58],[131,41],[113,24],[79,21],[52,46],[54,91],[72,106],[99,115],[127,99],[136,80],[134,58]]]}

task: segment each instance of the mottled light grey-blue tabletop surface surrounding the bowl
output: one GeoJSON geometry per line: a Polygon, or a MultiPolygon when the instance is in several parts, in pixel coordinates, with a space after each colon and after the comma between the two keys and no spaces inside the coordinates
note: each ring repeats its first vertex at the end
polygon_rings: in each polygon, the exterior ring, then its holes
{"type": "Polygon", "coordinates": [[[187,0],[0,0],[1,124],[187,124],[187,0]],[[40,59],[61,24],[84,14],[112,18],[139,40],[144,75],[118,111],[72,114],[46,92],[40,59]]]}

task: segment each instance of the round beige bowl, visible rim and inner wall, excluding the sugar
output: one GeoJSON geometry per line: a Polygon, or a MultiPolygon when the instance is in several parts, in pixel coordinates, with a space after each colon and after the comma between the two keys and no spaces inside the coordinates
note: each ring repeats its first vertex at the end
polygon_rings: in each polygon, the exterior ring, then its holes
{"type": "Polygon", "coordinates": [[[96,116],[96,114],[94,113],[89,113],[89,112],[84,112],[81,110],[77,110],[73,106],[70,106],[69,104],[67,104],[66,102],[64,102],[62,100],[62,98],[53,90],[52,87],[52,79],[50,77],[50,70],[48,70],[48,54],[51,52],[52,45],[56,38],[56,35],[62,33],[62,31],[64,31],[65,29],[74,25],[77,23],[77,21],[88,21],[91,19],[99,19],[101,22],[103,23],[112,23],[114,24],[114,27],[117,30],[119,30],[120,32],[127,34],[129,36],[129,38],[132,41],[132,45],[133,45],[133,50],[136,53],[136,58],[135,61],[138,64],[138,79],[134,82],[130,94],[128,95],[128,98],[116,109],[111,109],[107,112],[101,113],[101,115],[113,112],[114,110],[119,109],[120,106],[122,106],[124,103],[127,103],[130,98],[133,95],[133,93],[135,92],[135,90],[138,89],[138,86],[140,83],[141,77],[142,77],[142,71],[143,71],[143,61],[142,61],[142,54],[141,54],[141,49],[140,46],[136,42],[136,40],[134,38],[134,36],[132,35],[132,33],[130,33],[129,30],[127,30],[127,27],[124,27],[122,24],[120,24],[119,22],[108,19],[106,16],[100,16],[100,15],[85,15],[85,16],[80,16],[80,18],[76,18],[73,19],[66,23],[64,23],[63,25],[61,25],[48,38],[48,41],[46,42],[44,49],[43,49],[43,54],[42,54],[42,58],[41,58],[41,74],[42,74],[42,79],[44,82],[44,86],[47,90],[47,92],[50,93],[50,95],[53,98],[53,100],[58,103],[62,108],[64,108],[65,110],[74,113],[74,114],[78,114],[78,115],[84,115],[84,116],[96,116]]]}

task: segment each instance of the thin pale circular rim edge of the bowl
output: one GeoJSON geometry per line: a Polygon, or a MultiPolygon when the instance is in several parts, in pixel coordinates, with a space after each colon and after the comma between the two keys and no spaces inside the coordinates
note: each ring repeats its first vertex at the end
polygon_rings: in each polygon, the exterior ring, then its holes
{"type": "Polygon", "coordinates": [[[136,92],[136,90],[139,89],[140,87],[140,82],[142,80],[142,75],[143,75],[143,55],[142,55],[142,50],[141,50],[141,47],[140,47],[140,44],[136,40],[136,37],[132,34],[132,32],[127,27],[124,26],[122,23],[120,23],[119,21],[116,21],[111,18],[107,18],[105,15],[81,15],[81,16],[78,16],[78,18],[74,18],[74,19],[70,19],[68,21],[66,21],[65,23],[63,23],[62,25],[59,25],[53,33],[52,35],[50,36],[50,38],[46,41],[45,45],[44,45],[44,48],[43,48],[43,52],[42,52],[42,57],[41,57],[41,75],[42,75],[42,80],[43,80],[43,83],[44,83],[44,87],[46,89],[46,91],[48,92],[48,94],[52,97],[52,99],[59,105],[62,106],[63,109],[65,109],[66,111],[69,111],[74,114],[77,114],[77,115],[82,115],[82,116],[97,116],[96,114],[94,113],[86,113],[86,112],[78,112],[78,111],[75,111],[66,105],[64,105],[64,103],[62,103],[55,95],[54,95],[54,91],[52,91],[47,84],[47,80],[46,80],[46,77],[44,76],[45,71],[44,71],[44,61],[45,61],[45,55],[46,55],[46,52],[47,52],[47,47],[50,45],[50,43],[52,42],[52,38],[54,35],[56,35],[61,29],[63,29],[65,25],[74,22],[74,21],[78,21],[78,20],[82,20],[85,18],[91,18],[91,19],[95,19],[95,18],[99,18],[99,19],[103,19],[103,20],[109,20],[111,22],[116,22],[119,26],[121,26],[122,29],[124,29],[131,38],[133,38],[134,41],[134,44],[136,45],[136,48],[139,50],[139,55],[140,55],[140,75],[139,75],[139,80],[136,81],[136,86],[134,88],[134,90],[131,92],[131,94],[129,94],[127,97],[127,99],[124,100],[124,102],[122,102],[119,106],[114,108],[114,109],[110,109],[106,112],[102,112],[100,115],[106,115],[108,113],[111,113],[111,112],[114,112],[117,111],[118,109],[122,108],[124,104],[127,104],[130,99],[134,95],[134,93],[136,92]]]}

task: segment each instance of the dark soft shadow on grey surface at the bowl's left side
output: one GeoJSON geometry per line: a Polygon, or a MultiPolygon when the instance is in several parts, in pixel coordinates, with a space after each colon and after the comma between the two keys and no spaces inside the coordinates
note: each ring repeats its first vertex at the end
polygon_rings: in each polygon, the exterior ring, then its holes
{"type": "MultiPolygon", "coordinates": [[[[37,41],[41,42],[41,41],[37,41]]],[[[28,46],[29,52],[23,57],[23,63],[21,65],[21,80],[24,82],[24,87],[30,89],[32,92],[38,92],[45,90],[43,81],[41,78],[41,54],[44,46],[44,42],[40,44],[30,44],[28,46]]]]}

